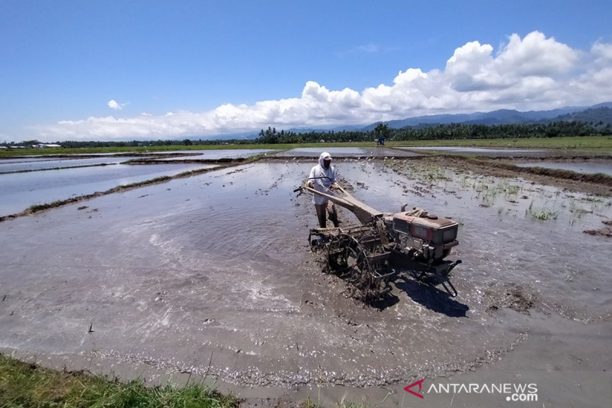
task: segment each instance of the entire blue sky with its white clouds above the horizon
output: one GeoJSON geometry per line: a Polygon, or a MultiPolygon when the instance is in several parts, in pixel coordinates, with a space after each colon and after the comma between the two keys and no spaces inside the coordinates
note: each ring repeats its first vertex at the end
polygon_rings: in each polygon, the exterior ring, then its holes
{"type": "Polygon", "coordinates": [[[612,95],[597,86],[612,62],[610,21],[610,1],[594,0],[4,0],[0,138],[178,138],[588,105],[612,95]],[[476,41],[451,73],[455,50],[476,41]],[[538,53],[541,67],[515,75],[538,53]],[[411,72],[400,89],[408,69],[427,78],[411,72]],[[364,91],[379,84],[394,89],[364,91]]]}

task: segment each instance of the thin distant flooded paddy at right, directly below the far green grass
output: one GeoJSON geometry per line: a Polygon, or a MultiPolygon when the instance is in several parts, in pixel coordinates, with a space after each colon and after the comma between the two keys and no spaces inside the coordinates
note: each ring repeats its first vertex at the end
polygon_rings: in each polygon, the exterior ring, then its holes
{"type": "Polygon", "coordinates": [[[563,157],[563,156],[608,156],[610,152],[600,150],[575,150],[575,149],[493,149],[487,147],[461,147],[461,146],[418,146],[400,147],[413,151],[425,150],[442,154],[476,154],[489,157],[563,157]]]}

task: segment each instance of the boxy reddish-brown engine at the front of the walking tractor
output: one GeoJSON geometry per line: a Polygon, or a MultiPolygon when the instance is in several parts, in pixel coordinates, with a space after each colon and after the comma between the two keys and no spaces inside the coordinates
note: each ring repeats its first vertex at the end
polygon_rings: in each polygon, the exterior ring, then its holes
{"type": "Polygon", "coordinates": [[[458,223],[422,210],[385,217],[385,224],[395,250],[415,261],[438,264],[459,244],[458,223]]]}

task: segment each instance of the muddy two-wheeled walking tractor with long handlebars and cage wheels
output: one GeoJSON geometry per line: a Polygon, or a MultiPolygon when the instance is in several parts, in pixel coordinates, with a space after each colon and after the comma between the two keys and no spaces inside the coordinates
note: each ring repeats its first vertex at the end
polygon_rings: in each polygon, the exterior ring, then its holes
{"type": "Polygon", "coordinates": [[[406,211],[406,204],[398,213],[383,213],[340,186],[326,193],[308,185],[294,191],[324,196],[359,220],[360,224],[311,229],[308,236],[311,249],[323,256],[323,272],[351,283],[356,297],[365,302],[382,299],[400,273],[441,284],[451,296],[457,295],[449,273],[461,261],[445,259],[459,244],[457,222],[417,207],[406,211]]]}

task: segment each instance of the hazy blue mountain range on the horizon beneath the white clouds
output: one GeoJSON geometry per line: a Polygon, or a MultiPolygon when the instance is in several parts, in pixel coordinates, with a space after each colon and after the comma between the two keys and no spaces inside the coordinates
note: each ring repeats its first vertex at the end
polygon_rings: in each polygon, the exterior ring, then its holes
{"type": "MultiPolygon", "coordinates": [[[[568,106],[566,108],[551,109],[548,111],[516,111],[514,109],[498,109],[491,112],[439,114],[406,117],[395,121],[375,122],[369,125],[340,125],[321,128],[290,128],[285,132],[310,133],[310,132],[334,132],[354,131],[368,132],[373,130],[379,123],[387,124],[390,128],[405,127],[428,127],[442,124],[470,124],[470,125],[503,125],[503,124],[530,124],[550,121],[581,121],[581,122],[603,122],[612,124],[612,102],[598,103],[592,106],[568,106]]],[[[280,131],[280,128],[277,130],[280,131]]],[[[243,133],[231,133],[226,135],[207,136],[207,139],[255,139],[259,130],[243,133]]],[[[200,139],[198,137],[190,138],[200,139]]],[[[204,138],[203,138],[204,139],[204,138]]]]}

